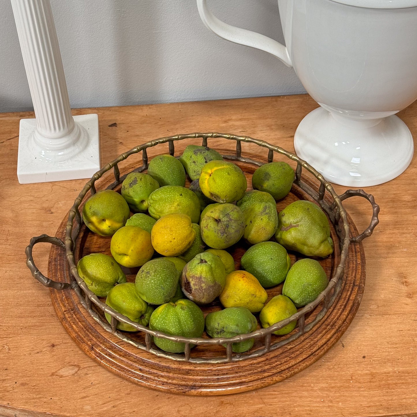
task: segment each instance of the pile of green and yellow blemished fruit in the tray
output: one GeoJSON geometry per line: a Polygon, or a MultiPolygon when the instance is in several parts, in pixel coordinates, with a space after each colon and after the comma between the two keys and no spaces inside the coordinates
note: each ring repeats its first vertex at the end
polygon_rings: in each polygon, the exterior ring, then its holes
{"type": "MultiPolygon", "coordinates": [[[[270,327],[314,301],[329,281],[320,263],[308,258],[333,252],[324,212],[304,200],[277,212],[276,201],[293,181],[287,163],[266,163],[246,191],[241,169],[204,146],[187,146],[178,159],[156,156],[147,173],[126,176],[120,193],[98,191],[85,202],[83,221],[90,231],[111,236],[112,256],[84,256],[78,274],[112,309],[166,334],[202,337],[206,330],[209,337],[233,337],[253,332],[258,319],[270,327]],[[241,243],[248,249],[236,271],[230,251],[241,243]],[[291,266],[287,250],[307,258],[291,266]],[[135,282],[126,282],[121,266],[140,267],[135,282]],[[266,288],[282,282],[282,294],[266,304],[266,288]],[[224,308],[204,317],[201,306],[217,298],[224,308]]],[[[122,322],[117,328],[136,331],[122,322]]],[[[166,352],[184,352],[184,343],[153,342],[166,352]]],[[[232,349],[246,352],[253,344],[249,339],[232,349]]]]}

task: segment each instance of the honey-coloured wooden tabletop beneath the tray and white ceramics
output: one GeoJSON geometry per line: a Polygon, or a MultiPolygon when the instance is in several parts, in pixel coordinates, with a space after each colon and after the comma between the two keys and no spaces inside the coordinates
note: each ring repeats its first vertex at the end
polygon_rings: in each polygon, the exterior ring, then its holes
{"type": "MultiPolygon", "coordinates": [[[[308,95],[294,95],[73,114],[98,113],[104,164],[145,141],[196,131],[247,135],[291,151],[296,126],[315,107],[308,95]]],[[[55,235],[86,180],[18,183],[19,120],[28,117],[33,113],[0,114],[0,416],[417,415],[415,158],[399,178],[366,188],[381,206],[380,224],[364,241],[365,292],[339,342],[309,368],[269,387],[190,397],[140,387],[90,359],[60,324],[49,291],[30,275],[25,246],[32,236],[55,235]]],[[[399,117],[417,138],[417,102],[399,117]]],[[[371,206],[359,198],[344,204],[365,229],[371,206]]],[[[49,251],[48,244],[34,249],[45,273],[49,251]]]]}

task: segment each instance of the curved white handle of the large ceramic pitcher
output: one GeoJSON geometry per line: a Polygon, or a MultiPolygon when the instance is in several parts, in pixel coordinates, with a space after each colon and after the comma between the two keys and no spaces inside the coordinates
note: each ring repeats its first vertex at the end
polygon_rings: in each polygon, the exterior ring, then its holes
{"type": "Polygon", "coordinates": [[[276,56],[276,58],[279,58],[287,67],[292,67],[288,50],[281,43],[260,33],[236,28],[235,26],[222,22],[211,13],[207,7],[207,0],[197,0],[197,8],[204,25],[216,33],[216,35],[234,43],[251,46],[252,48],[268,52],[276,56]]]}

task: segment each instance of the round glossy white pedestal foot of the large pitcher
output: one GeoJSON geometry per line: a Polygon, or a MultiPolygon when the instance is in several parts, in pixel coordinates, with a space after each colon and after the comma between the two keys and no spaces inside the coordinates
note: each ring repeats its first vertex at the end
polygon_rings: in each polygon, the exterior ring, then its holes
{"type": "Polygon", "coordinates": [[[294,135],[296,154],[327,181],[368,187],[396,178],[409,166],[413,139],[400,118],[345,122],[319,107],[304,117],[294,135]]]}

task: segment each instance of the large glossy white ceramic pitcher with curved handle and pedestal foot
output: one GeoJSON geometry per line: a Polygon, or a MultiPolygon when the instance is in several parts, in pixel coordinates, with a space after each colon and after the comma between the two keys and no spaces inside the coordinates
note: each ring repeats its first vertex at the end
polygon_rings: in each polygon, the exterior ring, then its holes
{"type": "Polygon", "coordinates": [[[411,162],[411,133],[395,113],[417,99],[417,0],[278,0],[286,47],[217,19],[214,33],[294,67],[321,107],[294,135],[297,155],[345,186],[381,184],[411,162]]]}

